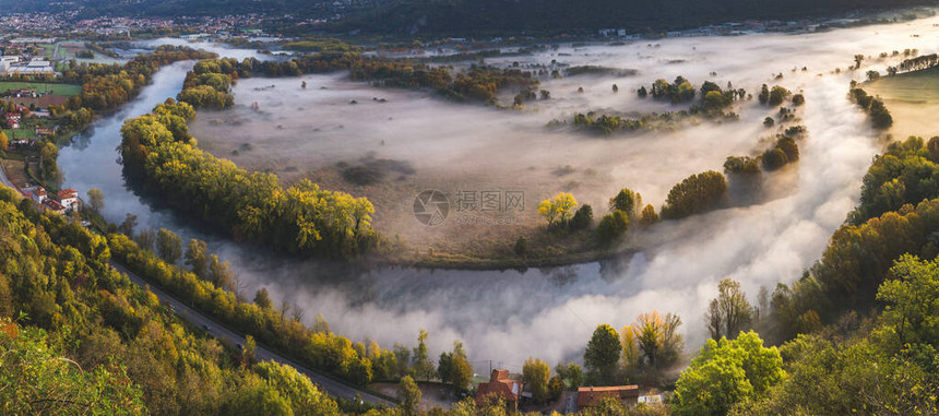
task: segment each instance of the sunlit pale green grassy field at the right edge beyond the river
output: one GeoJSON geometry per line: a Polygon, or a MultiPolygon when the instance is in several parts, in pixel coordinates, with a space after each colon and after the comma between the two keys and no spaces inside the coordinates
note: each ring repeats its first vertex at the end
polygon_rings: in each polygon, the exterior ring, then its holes
{"type": "Polygon", "coordinates": [[[883,76],[863,88],[883,98],[893,115],[894,138],[939,135],[939,68],[883,76]]]}

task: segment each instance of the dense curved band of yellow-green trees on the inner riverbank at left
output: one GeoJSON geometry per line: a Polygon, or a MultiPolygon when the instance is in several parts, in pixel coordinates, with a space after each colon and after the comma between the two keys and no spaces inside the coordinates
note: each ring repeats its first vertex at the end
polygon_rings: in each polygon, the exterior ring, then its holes
{"type": "Polygon", "coordinates": [[[239,169],[195,147],[179,115],[192,110],[167,100],[121,128],[124,168],[148,190],[237,238],[290,253],[348,258],[377,245],[368,200],[306,180],[283,189],[274,175],[239,169]]]}

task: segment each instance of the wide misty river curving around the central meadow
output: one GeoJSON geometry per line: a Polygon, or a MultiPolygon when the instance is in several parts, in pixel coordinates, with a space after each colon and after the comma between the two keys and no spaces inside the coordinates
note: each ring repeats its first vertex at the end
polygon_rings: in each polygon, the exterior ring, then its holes
{"type": "MultiPolygon", "coordinates": [[[[733,61],[725,69],[737,69],[747,76],[759,71],[759,79],[751,76],[756,83],[780,69],[793,68],[794,62],[811,62],[812,73],[786,73],[787,80],[793,79],[788,82],[805,93],[803,121],[810,139],[800,144],[803,157],[794,168],[793,192],[757,205],[663,223],[655,231],[661,238],[654,247],[615,263],[526,271],[384,268],[350,272],[235,243],[221,233],[193,226],[129,189],[116,151],[122,120],[175,96],[191,62],[162,69],[153,84],[124,109],[96,121],[72,145],[61,148],[59,166],[66,185],[80,193],[102,189],[103,214],[108,221],[120,223],[131,213],[141,227],[163,227],[183,238],[206,240],[210,250],[231,262],[248,297],[266,287],[275,302],[298,305],[305,322],[311,323],[322,313],[333,331],[355,341],[371,338],[388,348],[397,342],[413,345],[418,331],[427,329],[431,356],[450,349],[459,340],[474,367],[482,370],[477,372],[485,372],[490,360],[519,371],[528,356],[551,365],[577,359],[598,323],[619,329],[637,314],[658,309],[682,317],[689,347],[697,348],[705,336],[701,316],[716,294],[717,281],[740,281],[753,299],[760,286],[772,289],[776,283],[797,280],[857,202],[860,178],[881,146],[866,116],[846,98],[847,83],[863,74],[822,76],[821,71],[846,66],[856,50],[876,54],[912,44],[923,54],[935,52],[939,38],[935,23],[939,20],[932,17],[915,21],[913,26],[825,34],[661,40],[662,47],[655,48],[662,51],[657,59],[688,59],[668,67],[669,72],[694,72],[690,66],[705,59],[705,54],[713,54],[706,58],[713,62],[740,59],[746,51],[752,56],[752,66],[733,61]],[[911,32],[923,37],[911,39],[911,32]],[[793,57],[797,61],[785,60],[793,57]]],[[[643,54],[657,52],[650,48],[643,54]]],[[[593,56],[605,62],[620,59],[610,54],[593,56]]]]}

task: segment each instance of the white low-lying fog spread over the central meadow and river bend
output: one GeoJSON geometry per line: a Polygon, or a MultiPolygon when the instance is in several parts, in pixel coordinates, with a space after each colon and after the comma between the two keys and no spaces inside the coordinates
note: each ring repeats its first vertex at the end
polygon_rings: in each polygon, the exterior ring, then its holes
{"type": "MultiPolygon", "coordinates": [[[[527,212],[534,212],[538,199],[569,190],[602,214],[605,201],[621,187],[642,192],[645,202],[658,207],[668,189],[688,175],[721,170],[726,156],[764,148],[759,139],[773,130],[761,120],[772,111],[756,99],[741,104],[737,122],[704,122],[667,134],[597,138],[545,129],[548,120],[575,111],[670,109],[634,94],[657,78],[670,82],[684,75],[696,86],[705,80],[721,86],[729,81],[754,96],[763,83],[801,91],[806,104],[799,117],[809,136],[799,143],[797,165],[769,174],[788,178],[777,198],[662,223],[638,241],[646,248],[621,266],[590,263],[525,273],[393,268],[348,276],[317,262],[271,259],[223,240],[211,241],[212,248],[231,261],[247,293],[266,287],[273,299],[302,307],[307,322],[323,313],[334,331],[354,340],[370,337],[385,347],[413,344],[418,330],[426,329],[432,356],[461,340],[477,372],[485,372],[484,361],[490,359],[514,370],[528,356],[551,364],[579,359],[598,323],[620,329],[652,309],[681,316],[688,350],[693,352],[705,336],[701,317],[718,280],[740,281],[752,299],[760,286],[791,283],[819,258],[856,204],[860,179],[882,146],[866,116],[847,99],[848,82],[861,80],[869,69],[884,72],[899,62],[879,60],[881,51],[936,52],[937,24],[939,17],[930,17],[807,35],[568,45],[535,56],[487,60],[524,67],[555,59],[639,71],[627,78],[544,81],[540,87],[552,98],[531,103],[522,112],[449,104],[427,93],[375,88],[340,75],[305,76],[306,90],[299,79],[241,80],[234,90],[235,109],[202,111],[192,126],[202,147],[247,168],[270,168],[288,181],[317,177],[336,162],[355,163],[368,155],[406,161],[414,175],[385,179],[399,193],[371,191],[387,199],[376,201],[378,205],[397,204],[402,213],[409,212],[419,189],[453,192],[459,187],[523,188],[527,212]],[[860,71],[846,72],[856,54],[872,59],[860,71]],[[840,74],[833,73],[836,68],[840,74]],[[716,76],[709,76],[711,72],[716,76]],[[778,73],[783,79],[774,80],[778,73]],[[611,92],[614,83],[618,94],[611,92]],[[270,85],[275,87],[264,88],[270,85]],[[577,93],[580,86],[583,94],[577,93]],[[350,105],[353,99],[358,104],[350,105]],[[251,108],[254,102],[257,111],[251,108]],[[245,151],[243,143],[252,148],[245,151]],[[233,150],[239,150],[237,156],[233,150]],[[572,173],[556,171],[568,165],[572,173]]],[[[503,103],[510,100],[503,97],[503,103]]],[[[328,188],[369,192],[342,181],[328,188]]],[[[420,233],[432,233],[404,214],[379,212],[377,217],[383,230],[417,239],[420,233]]]]}

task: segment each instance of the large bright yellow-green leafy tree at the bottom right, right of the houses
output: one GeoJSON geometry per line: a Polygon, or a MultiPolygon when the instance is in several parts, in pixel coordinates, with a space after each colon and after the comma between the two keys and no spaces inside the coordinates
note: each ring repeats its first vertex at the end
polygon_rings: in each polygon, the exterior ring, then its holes
{"type": "Polygon", "coordinates": [[[721,415],[737,403],[763,395],[786,377],[776,347],[766,348],[756,332],[737,340],[708,340],[675,387],[676,415],[721,415]]]}

